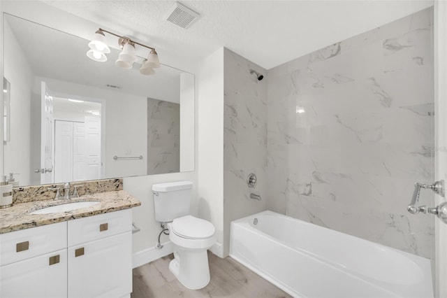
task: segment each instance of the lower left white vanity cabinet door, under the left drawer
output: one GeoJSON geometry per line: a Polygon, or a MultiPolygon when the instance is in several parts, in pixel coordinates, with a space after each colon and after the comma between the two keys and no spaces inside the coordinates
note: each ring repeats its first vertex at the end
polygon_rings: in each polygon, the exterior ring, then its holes
{"type": "Polygon", "coordinates": [[[0,297],[67,297],[67,250],[0,267],[0,297]]]}

